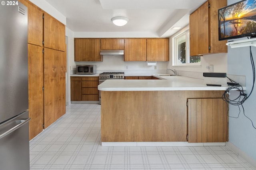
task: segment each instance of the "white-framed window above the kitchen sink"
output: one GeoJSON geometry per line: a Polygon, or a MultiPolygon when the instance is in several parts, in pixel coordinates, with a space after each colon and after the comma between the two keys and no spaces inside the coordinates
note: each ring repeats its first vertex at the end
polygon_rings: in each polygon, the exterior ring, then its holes
{"type": "Polygon", "coordinates": [[[200,56],[189,56],[189,30],[172,38],[175,66],[200,65],[200,56]]]}

